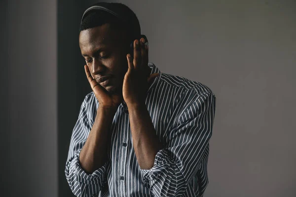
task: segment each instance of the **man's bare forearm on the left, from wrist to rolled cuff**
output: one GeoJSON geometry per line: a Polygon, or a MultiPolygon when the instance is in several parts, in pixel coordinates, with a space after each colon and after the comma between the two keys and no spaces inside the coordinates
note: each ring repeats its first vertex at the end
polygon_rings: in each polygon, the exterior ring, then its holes
{"type": "Polygon", "coordinates": [[[80,152],[81,168],[92,173],[107,161],[107,150],[110,143],[110,128],[115,112],[105,108],[98,108],[93,127],[80,152]]]}

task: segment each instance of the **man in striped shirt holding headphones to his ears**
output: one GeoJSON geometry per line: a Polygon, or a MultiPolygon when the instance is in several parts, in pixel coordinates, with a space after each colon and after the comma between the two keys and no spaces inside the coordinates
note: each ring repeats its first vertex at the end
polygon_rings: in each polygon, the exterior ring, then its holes
{"type": "Polygon", "coordinates": [[[79,46],[93,91],[81,105],[66,163],[73,193],[203,196],[213,92],[148,63],[147,40],[126,5],[97,3],[87,9],[79,46]]]}

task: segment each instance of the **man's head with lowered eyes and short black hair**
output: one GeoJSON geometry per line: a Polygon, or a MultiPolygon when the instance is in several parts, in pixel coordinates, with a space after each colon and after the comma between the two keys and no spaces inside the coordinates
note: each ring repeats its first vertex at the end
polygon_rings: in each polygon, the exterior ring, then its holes
{"type": "MultiPolygon", "coordinates": [[[[121,3],[107,3],[108,8],[123,12],[139,21],[135,13],[121,3]]],[[[79,46],[90,73],[97,82],[100,77],[111,76],[100,83],[107,91],[120,93],[124,75],[128,69],[126,55],[131,53],[130,43],[141,35],[140,25],[104,10],[90,10],[84,14],[80,25],[79,46]]],[[[102,78],[101,78],[102,79],[102,78]]]]}

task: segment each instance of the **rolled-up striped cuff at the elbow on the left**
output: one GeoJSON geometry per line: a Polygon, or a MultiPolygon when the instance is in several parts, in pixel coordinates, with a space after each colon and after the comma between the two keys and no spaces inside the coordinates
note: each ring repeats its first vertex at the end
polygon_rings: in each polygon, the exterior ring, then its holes
{"type": "Polygon", "coordinates": [[[80,183],[84,183],[87,185],[99,185],[99,186],[103,186],[105,184],[106,179],[105,179],[105,172],[107,169],[107,162],[104,163],[103,166],[101,166],[100,168],[98,168],[97,170],[95,170],[92,174],[87,174],[80,165],[79,162],[79,156],[80,156],[80,151],[79,150],[74,157],[74,169],[76,171],[77,174],[77,180],[80,183]]]}

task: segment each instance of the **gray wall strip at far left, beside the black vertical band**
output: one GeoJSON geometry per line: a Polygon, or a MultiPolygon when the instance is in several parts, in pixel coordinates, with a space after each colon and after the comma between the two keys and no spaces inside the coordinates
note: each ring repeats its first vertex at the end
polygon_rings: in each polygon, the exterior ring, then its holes
{"type": "Polygon", "coordinates": [[[1,9],[0,196],[57,197],[57,4],[1,9]]]}

